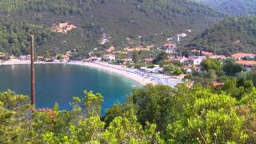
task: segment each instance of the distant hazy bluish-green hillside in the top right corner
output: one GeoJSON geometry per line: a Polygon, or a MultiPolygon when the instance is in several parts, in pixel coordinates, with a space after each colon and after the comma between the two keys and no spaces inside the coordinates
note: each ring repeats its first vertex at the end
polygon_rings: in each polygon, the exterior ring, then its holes
{"type": "Polygon", "coordinates": [[[206,6],[214,7],[228,14],[253,14],[256,15],[256,0],[191,0],[202,2],[206,6]]]}

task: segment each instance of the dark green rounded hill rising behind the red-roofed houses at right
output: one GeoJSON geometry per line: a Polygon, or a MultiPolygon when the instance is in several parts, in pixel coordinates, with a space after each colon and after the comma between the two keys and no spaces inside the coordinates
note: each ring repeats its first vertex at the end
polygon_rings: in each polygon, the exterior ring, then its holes
{"type": "Polygon", "coordinates": [[[210,50],[218,54],[256,53],[256,18],[226,18],[198,35],[187,47],[210,50]]]}

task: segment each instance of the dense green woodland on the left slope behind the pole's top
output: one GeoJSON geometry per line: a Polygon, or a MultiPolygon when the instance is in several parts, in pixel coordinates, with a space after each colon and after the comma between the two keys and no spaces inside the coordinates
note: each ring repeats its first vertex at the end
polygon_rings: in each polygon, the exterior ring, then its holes
{"type": "Polygon", "coordinates": [[[27,22],[15,22],[12,18],[0,18],[0,51],[21,55],[29,54],[30,34],[34,34],[36,46],[54,39],[50,27],[34,26],[27,22]]]}

